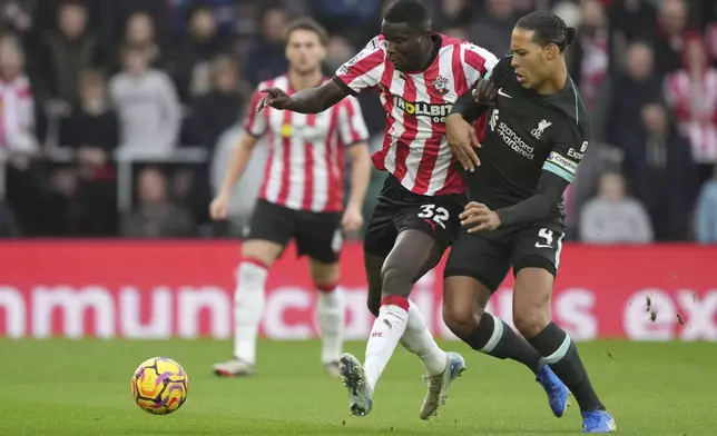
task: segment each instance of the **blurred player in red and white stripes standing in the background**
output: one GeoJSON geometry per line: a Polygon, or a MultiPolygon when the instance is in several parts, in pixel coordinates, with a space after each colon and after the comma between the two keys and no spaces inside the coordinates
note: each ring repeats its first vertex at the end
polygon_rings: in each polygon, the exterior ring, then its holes
{"type": "MultiPolygon", "coordinates": [[[[311,20],[292,23],[286,46],[288,73],[261,83],[259,89],[276,87],[292,95],[326,81],[321,70],[326,40],[325,31],[311,20]]],[[[266,277],[288,241],[294,239],[298,256],[310,258],[312,278],[318,290],[321,359],[326,370],[337,376],[345,316],[343,298],[336,289],[342,228],[353,232],[363,226],[361,210],[371,176],[369,130],[354,98],[321,113],[303,115],[276,109],[257,113],[262,97],[256,92],[252,99],[246,132],[210,206],[214,219],[226,218],[232,189],[258,139],[266,137],[271,153],[237,272],[234,358],[215,365],[214,369],[222,376],[254,374],[266,277]],[[344,210],[346,152],[352,160],[352,189],[344,210]]]]}

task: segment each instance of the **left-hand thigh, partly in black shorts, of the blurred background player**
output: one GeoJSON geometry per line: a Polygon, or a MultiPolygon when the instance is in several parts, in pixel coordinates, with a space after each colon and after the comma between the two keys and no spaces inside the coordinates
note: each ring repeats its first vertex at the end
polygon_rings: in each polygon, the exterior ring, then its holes
{"type": "Polygon", "coordinates": [[[242,257],[272,266],[294,236],[295,222],[292,210],[259,200],[254,208],[246,237],[242,244],[242,257]]]}

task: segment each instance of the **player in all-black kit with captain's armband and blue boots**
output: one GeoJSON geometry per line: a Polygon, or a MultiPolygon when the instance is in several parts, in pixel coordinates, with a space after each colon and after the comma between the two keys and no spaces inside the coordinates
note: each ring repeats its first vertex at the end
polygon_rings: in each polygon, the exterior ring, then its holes
{"type": "Polygon", "coordinates": [[[521,18],[511,54],[498,62],[490,80],[477,85],[479,102],[469,92],[449,117],[451,147],[465,156],[460,150],[470,149],[473,130],[466,121],[490,105],[480,166],[465,175],[471,202],[445,266],[443,318],[473,349],[531,369],[557,417],[567,407],[567,385],[580,405],[583,432],[609,433],[615,419],[595,393],[570,335],[550,315],[564,237],[563,192],[590,140],[588,106],[563,57],[574,37],[576,30],[550,12],[521,18]],[[484,311],[511,267],[513,321],[526,339],[484,311]]]}

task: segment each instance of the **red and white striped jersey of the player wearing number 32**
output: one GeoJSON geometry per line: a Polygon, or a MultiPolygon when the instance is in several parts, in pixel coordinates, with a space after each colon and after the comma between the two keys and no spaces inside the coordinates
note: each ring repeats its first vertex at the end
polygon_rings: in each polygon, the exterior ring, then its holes
{"type": "Polygon", "coordinates": [[[425,196],[460,194],[463,180],[445,139],[445,117],[453,103],[498,59],[470,42],[435,33],[441,49],[423,72],[397,71],[383,36],[371,40],[336,77],[352,91],[376,88],[386,111],[383,148],[374,166],[391,172],[404,188],[425,196]]]}

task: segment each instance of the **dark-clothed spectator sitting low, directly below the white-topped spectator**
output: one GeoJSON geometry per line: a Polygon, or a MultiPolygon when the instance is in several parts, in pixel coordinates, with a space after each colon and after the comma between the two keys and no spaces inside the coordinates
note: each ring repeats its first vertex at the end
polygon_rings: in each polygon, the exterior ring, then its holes
{"type": "Polygon", "coordinates": [[[122,236],[129,238],[181,238],[191,236],[193,222],[186,210],[167,198],[167,179],[156,168],[138,177],[139,205],[125,217],[122,236]]]}

